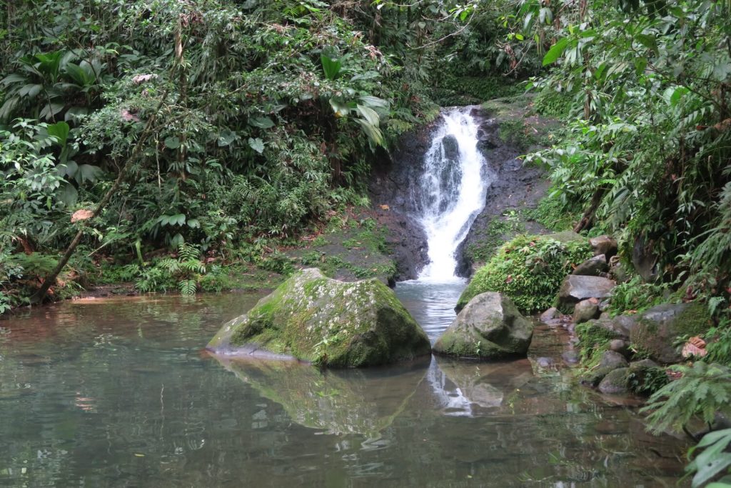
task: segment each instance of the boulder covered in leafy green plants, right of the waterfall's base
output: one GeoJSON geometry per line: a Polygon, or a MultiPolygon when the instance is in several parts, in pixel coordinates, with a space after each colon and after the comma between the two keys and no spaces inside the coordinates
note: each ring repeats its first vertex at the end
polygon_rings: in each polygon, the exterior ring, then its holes
{"type": "Polygon", "coordinates": [[[487,291],[503,293],[520,312],[533,313],[553,304],[564,277],[591,258],[591,246],[576,233],[517,236],[504,244],[474,274],[455,309],[487,291]]]}

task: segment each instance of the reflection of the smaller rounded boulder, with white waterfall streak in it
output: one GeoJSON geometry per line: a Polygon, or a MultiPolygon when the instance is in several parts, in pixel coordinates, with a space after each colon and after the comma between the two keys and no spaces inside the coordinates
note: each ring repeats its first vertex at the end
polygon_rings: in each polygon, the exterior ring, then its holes
{"type": "Polygon", "coordinates": [[[500,408],[506,397],[534,377],[527,360],[476,363],[438,358],[428,378],[447,414],[476,416],[480,408],[500,408]]]}

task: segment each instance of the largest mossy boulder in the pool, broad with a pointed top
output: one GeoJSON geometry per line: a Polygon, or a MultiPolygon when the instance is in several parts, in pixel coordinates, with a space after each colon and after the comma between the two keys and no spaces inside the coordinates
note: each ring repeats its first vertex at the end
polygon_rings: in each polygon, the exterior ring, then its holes
{"type": "Polygon", "coordinates": [[[224,324],[208,349],[346,368],[413,359],[428,354],[430,345],[393,290],[379,280],[338,282],[305,269],[224,324]]]}

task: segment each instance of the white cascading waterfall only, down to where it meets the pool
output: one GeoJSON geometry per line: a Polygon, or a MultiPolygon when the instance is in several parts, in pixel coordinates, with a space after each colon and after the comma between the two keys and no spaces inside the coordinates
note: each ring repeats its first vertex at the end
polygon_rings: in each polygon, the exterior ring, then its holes
{"type": "Polygon", "coordinates": [[[420,177],[420,211],[430,262],[420,281],[450,282],[455,274],[455,252],[485,207],[487,164],[477,148],[477,122],[471,107],[448,108],[442,113],[420,177]]]}

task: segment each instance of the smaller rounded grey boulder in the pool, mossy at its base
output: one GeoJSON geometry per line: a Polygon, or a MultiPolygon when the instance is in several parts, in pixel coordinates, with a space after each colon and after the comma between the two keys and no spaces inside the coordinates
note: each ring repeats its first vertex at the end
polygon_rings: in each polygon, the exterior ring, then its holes
{"type": "Polygon", "coordinates": [[[469,301],[434,344],[434,352],[474,359],[526,356],[533,323],[500,293],[481,293],[469,301]]]}

